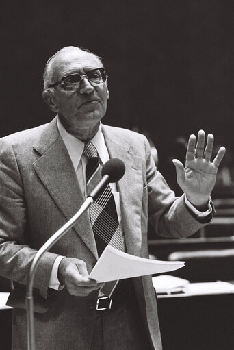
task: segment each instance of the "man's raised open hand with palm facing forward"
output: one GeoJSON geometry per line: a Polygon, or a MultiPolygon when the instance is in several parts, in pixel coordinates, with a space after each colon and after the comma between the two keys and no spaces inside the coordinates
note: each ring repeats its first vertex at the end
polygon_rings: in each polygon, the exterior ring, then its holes
{"type": "Polygon", "coordinates": [[[205,146],[205,132],[200,130],[197,142],[196,136],[190,135],[185,167],[179,160],[173,160],[177,171],[177,183],[185,192],[187,199],[200,210],[207,206],[216,183],[216,174],[224,156],[225,147],[220,147],[213,162],[211,162],[212,151],[213,135],[208,134],[205,146]]]}

